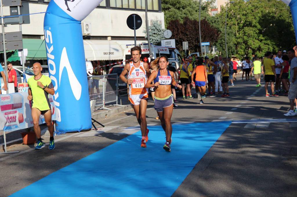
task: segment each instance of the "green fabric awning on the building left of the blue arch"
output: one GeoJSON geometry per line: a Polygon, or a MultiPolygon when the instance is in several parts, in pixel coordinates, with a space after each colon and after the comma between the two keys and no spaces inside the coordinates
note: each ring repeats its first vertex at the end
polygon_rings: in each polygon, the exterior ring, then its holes
{"type": "MultiPolygon", "coordinates": [[[[26,59],[47,59],[46,50],[45,50],[45,41],[41,39],[23,39],[23,48],[28,49],[28,55],[26,59]]],[[[18,50],[15,50],[15,53],[10,56],[7,61],[20,61],[18,56],[18,50]]]]}

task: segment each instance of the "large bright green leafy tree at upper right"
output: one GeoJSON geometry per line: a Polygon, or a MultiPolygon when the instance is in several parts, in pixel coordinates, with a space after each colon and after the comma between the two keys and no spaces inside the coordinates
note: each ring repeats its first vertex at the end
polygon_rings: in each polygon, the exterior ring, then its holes
{"type": "MultiPolygon", "coordinates": [[[[219,30],[215,43],[225,55],[226,7],[208,18],[219,30]]],[[[277,0],[235,0],[228,5],[227,47],[228,55],[239,57],[264,56],[266,51],[277,52],[295,45],[295,34],[290,8],[277,0]]]]}

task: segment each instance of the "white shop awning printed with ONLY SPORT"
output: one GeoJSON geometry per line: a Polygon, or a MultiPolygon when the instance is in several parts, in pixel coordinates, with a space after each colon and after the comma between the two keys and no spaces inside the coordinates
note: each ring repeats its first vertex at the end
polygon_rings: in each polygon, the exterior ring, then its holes
{"type": "Polygon", "coordinates": [[[122,60],[121,46],[108,40],[83,40],[86,59],[91,60],[122,60]]]}

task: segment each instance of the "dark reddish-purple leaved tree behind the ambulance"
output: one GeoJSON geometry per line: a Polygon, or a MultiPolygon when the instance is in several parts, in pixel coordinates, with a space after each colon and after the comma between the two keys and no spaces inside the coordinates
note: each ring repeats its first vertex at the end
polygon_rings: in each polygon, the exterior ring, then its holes
{"type": "MultiPolygon", "coordinates": [[[[172,38],[176,39],[176,48],[182,50],[182,42],[189,42],[189,51],[200,51],[199,39],[199,22],[185,18],[183,22],[179,20],[171,20],[167,26],[172,31],[172,38]]],[[[212,27],[207,20],[201,20],[201,40],[209,41],[212,43],[217,41],[219,36],[218,30],[212,27]]]]}

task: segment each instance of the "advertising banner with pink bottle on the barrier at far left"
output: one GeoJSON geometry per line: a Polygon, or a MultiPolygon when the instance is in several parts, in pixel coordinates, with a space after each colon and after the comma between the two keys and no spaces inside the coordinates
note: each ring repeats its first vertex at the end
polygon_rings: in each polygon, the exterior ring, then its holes
{"type": "MultiPolygon", "coordinates": [[[[28,101],[28,92],[0,95],[0,116],[5,118],[4,131],[10,132],[33,127],[31,116],[31,101],[28,101]]],[[[52,120],[56,120],[56,110],[53,98],[49,95],[52,120]]],[[[39,124],[45,123],[44,116],[40,116],[39,124]]]]}

